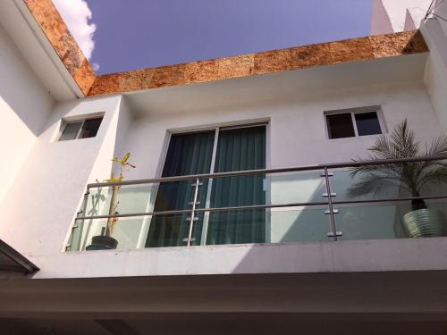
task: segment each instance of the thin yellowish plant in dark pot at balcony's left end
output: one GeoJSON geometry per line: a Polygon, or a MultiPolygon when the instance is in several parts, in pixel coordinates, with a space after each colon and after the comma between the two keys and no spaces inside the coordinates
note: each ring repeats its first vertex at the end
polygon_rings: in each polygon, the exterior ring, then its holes
{"type": "MultiPolygon", "coordinates": [[[[122,182],[124,180],[124,169],[132,168],[135,169],[135,165],[128,163],[129,157],[131,153],[127,153],[122,158],[114,157],[112,160],[114,163],[120,164],[120,174],[118,176],[114,175],[112,172],[110,178],[105,180],[107,182],[122,182]]],[[[119,214],[117,211],[117,207],[119,205],[118,201],[118,191],[121,186],[114,185],[112,187],[112,196],[110,198],[110,206],[109,206],[109,215],[119,214]]],[[[105,224],[105,229],[101,231],[101,235],[94,236],[91,239],[91,244],[86,247],[86,250],[106,250],[106,249],[115,249],[118,246],[118,241],[114,239],[112,236],[114,235],[114,227],[118,222],[117,217],[112,217],[107,219],[107,223],[105,224]]]]}

